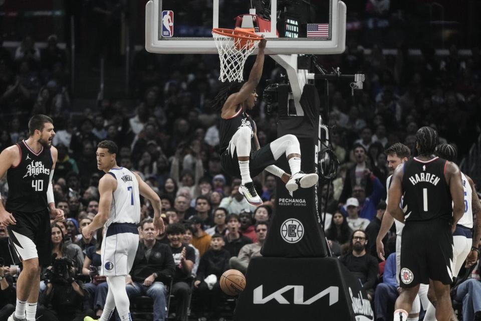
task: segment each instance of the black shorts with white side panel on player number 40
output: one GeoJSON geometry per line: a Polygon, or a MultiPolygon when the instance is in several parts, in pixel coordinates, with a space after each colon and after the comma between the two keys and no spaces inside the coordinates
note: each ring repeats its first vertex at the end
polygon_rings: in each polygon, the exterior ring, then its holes
{"type": "Polygon", "coordinates": [[[17,224],[9,225],[10,251],[16,263],[38,257],[39,265],[52,262],[52,229],[48,210],[37,213],[12,212],[17,224]]]}

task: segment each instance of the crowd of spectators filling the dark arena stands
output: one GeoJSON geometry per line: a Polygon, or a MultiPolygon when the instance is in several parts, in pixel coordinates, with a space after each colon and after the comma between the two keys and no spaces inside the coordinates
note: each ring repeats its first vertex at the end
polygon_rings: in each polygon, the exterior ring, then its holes
{"type": "MultiPolygon", "coordinates": [[[[169,309],[175,319],[185,319],[191,301],[197,316],[219,318],[223,296],[218,279],[229,268],[245,272],[250,259],[260,255],[275,214],[279,182],[266,172],[253,178],[264,200],[256,208],[238,192],[240,180],[222,172],[218,115],[210,109],[221,86],[215,57],[141,51],[133,63],[137,103],[109,97],[99,101],[96,110],[72,113],[68,55],[58,47],[55,35],[47,42],[48,47],[39,50],[26,37],[12,53],[0,41],[0,149],[27,138],[27,120],[33,114],[51,116],[56,127],[53,143],[59,157],[54,194],[67,220],[52,220],[52,254],[67,259],[44,269],[39,313],[49,320],[67,321],[102,312],[107,294],[105,278],[98,275],[102,233],[87,240],[81,230],[98,211],[98,181],[103,173],[97,170],[95,151],[98,142],[109,139],[119,146],[118,164],[136,171],[160,195],[167,226],[159,235],[150,219],[152,208],[144,202],[141,242],[127,281],[129,296],[152,297],[154,319],[162,320],[168,286],[177,300],[169,309]],[[70,273],[61,276],[65,266],[70,273]]],[[[380,264],[375,247],[386,208],[385,149],[403,142],[413,151],[416,130],[428,125],[439,132],[441,142],[455,144],[460,156],[467,153],[481,132],[481,52],[473,49],[471,56],[461,57],[453,46],[448,56],[423,49],[416,57],[402,46],[396,55],[383,55],[381,49],[373,46],[365,55],[351,39],[344,54],[318,59],[326,69],[339,66],[344,73],[366,75],[364,90],[354,95],[347,86],[330,85],[328,123],[341,167],[329,189],[323,186],[321,198],[327,198],[325,231],[334,255],[361,280],[377,318],[387,320],[392,315],[388,300],[392,310],[391,296],[397,296],[389,256],[394,252],[395,231],[384,239],[386,263],[380,264]],[[382,299],[376,294],[382,291],[391,296],[382,299]]],[[[276,79],[281,72],[281,67],[266,60],[258,92],[262,93],[265,80],[276,79]]],[[[260,95],[252,116],[261,146],[277,135],[276,114],[266,113],[265,107],[260,95]]],[[[0,187],[5,201],[5,179],[0,187]]],[[[0,280],[0,321],[14,308],[18,273],[10,267],[7,236],[5,227],[0,227],[4,265],[0,276],[6,276],[0,280]]],[[[479,263],[462,281],[456,287],[456,300],[462,303],[463,314],[479,317],[479,300],[464,305],[471,288],[477,286],[479,293],[479,263]]]]}

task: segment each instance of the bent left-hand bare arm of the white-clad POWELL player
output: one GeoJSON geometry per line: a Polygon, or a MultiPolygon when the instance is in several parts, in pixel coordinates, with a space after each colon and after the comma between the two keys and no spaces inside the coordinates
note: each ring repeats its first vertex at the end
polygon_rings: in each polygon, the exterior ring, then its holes
{"type": "Polygon", "coordinates": [[[110,174],[104,175],[99,181],[99,212],[95,215],[92,223],[82,229],[82,234],[89,239],[95,230],[104,226],[110,214],[112,206],[112,195],[117,189],[117,180],[110,174]]]}

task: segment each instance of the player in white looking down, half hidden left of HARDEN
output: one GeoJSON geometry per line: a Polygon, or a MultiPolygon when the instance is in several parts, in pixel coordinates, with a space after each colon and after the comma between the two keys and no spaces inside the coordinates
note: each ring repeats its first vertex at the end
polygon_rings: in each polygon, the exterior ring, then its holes
{"type": "MultiPolygon", "coordinates": [[[[388,168],[394,171],[399,165],[407,162],[411,155],[409,147],[401,143],[395,143],[385,150],[387,155],[388,168]]],[[[386,189],[389,191],[389,186],[391,185],[392,175],[387,178],[386,189]]],[[[389,194],[389,193],[388,193],[389,194]]],[[[386,198],[386,204],[388,199],[386,198]]],[[[376,250],[377,255],[381,260],[384,260],[384,245],[382,239],[386,236],[387,232],[392,226],[392,223],[396,224],[396,280],[399,283],[399,273],[401,270],[401,234],[404,223],[395,220],[389,212],[386,210],[381,222],[381,228],[376,238],[376,250]],[[387,215],[386,215],[387,214],[387,215]]],[[[414,321],[419,319],[419,312],[421,310],[421,303],[424,309],[427,308],[429,300],[427,299],[427,284],[421,284],[419,286],[418,296],[414,299],[412,303],[411,311],[409,312],[407,321],[414,321]]]]}

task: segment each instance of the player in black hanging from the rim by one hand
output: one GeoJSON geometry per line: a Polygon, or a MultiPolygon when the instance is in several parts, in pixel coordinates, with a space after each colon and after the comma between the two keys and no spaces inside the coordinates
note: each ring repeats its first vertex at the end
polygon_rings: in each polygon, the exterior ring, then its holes
{"type": "Polygon", "coordinates": [[[239,192],[254,206],[260,206],[263,202],[254,188],[251,176],[257,176],[264,170],[281,178],[290,192],[299,187],[312,187],[318,181],[317,174],[304,174],[301,171],[301,147],[296,136],[284,135],[262,148],[259,144],[256,123],[247,112],[256,105],[256,87],[262,76],[264,48],[266,40],[262,39],[249,80],[244,84],[231,83],[221,89],[212,104],[220,112],[222,169],[227,174],[242,179],[239,192]],[[287,156],[292,176],[274,165],[283,154],[287,156]]]}

